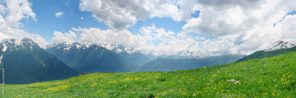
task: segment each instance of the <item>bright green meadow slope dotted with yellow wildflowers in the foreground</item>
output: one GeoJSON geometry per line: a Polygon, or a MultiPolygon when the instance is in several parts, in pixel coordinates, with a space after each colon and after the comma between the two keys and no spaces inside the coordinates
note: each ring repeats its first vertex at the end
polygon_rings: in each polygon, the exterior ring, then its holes
{"type": "Polygon", "coordinates": [[[5,85],[5,97],[296,97],[296,52],[173,72],[93,73],[59,81],[5,85]],[[235,79],[240,83],[228,82],[235,79]]]}

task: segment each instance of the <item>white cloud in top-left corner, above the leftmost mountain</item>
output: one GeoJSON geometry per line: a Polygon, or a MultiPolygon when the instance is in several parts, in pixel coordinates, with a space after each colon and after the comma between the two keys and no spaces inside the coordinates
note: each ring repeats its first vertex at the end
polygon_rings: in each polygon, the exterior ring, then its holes
{"type": "Polygon", "coordinates": [[[15,29],[22,23],[21,19],[36,20],[36,14],[31,9],[31,2],[27,0],[6,0],[0,4],[0,41],[5,39],[30,38],[39,46],[48,44],[40,35],[30,34],[26,31],[15,29]],[[15,27],[15,28],[12,28],[15,27]]]}

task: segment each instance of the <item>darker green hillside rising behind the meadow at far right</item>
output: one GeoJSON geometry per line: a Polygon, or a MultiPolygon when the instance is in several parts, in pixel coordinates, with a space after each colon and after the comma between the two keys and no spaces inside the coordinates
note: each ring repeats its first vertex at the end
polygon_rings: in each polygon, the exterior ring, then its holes
{"type": "Polygon", "coordinates": [[[236,62],[244,62],[244,61],[248,61],[251,59],[262,59],[265,57],[274,57],[274,56],[279,56],[281,54],[286,54],[286,53],[290,53],[290,52],[294,52],[296,51],[296,46],[291,47],[291,48],[284,48],[284,49],[276,49],[276,50],[271,50],[271,51],[266,51],[266,50],[262,50],[262,51],[257,51],[251,55],[248,55],[242,59],[237,60],[236,62]]]}

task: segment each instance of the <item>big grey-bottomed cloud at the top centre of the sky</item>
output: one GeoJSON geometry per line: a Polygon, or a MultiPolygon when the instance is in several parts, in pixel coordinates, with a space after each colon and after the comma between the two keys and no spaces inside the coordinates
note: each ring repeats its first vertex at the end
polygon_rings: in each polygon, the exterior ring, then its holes
{"type": "Polygon", "coordinates": [[[178,7],[169,0],[81,0],[79,8],[81,11],[91,11],[98,21],[120,30],[146,18],[169,16],[177,20],[175,17],[178,13],[178,7]]]}

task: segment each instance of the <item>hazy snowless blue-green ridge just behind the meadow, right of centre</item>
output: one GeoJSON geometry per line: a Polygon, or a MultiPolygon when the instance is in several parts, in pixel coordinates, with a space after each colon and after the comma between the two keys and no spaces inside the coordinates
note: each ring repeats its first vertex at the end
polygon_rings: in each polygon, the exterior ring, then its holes
{"type": "Polygon", "coordinates": [[[176,71],[176,70],[186,70],[186,69],[196,69],[201,67],[209,67],[221,64],[232,63],[243,55],[220,55],[212,56],[200,59],[165,59],[158,58],[154,61],[148,62],[140,67],[137,71],[147,72],[147,71],[176,71]]]}

